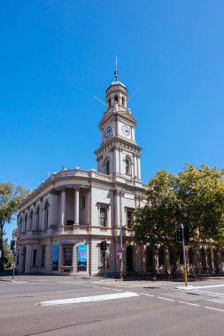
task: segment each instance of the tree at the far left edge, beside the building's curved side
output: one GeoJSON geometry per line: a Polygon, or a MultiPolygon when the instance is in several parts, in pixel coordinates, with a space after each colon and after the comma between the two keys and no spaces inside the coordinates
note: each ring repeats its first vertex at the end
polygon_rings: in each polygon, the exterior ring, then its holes
{"type": "Polygon", "coordinates": [[[0,182],[0,271],[4,269],[4,225],[11,223],[13,214],[28,191],[23,186],[15,187],[10,182],[0,182]]]}

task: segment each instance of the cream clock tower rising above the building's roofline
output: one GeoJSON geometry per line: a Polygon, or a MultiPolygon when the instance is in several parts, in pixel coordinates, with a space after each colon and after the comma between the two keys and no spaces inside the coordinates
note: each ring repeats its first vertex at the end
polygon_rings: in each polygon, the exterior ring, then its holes
{"type": "Polygon", "coordinates": [[[115,71],[115,81],[106,90],[107,110],[99,123],[101,145],[96,150],[97,172],[120,180],[141,180],[140,151],[135,142],[136,119],[127,108],[127,88],[115,71]]]}

